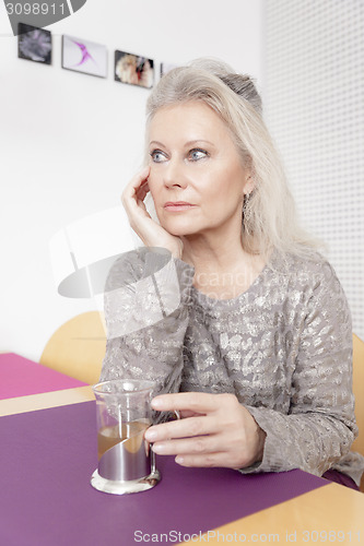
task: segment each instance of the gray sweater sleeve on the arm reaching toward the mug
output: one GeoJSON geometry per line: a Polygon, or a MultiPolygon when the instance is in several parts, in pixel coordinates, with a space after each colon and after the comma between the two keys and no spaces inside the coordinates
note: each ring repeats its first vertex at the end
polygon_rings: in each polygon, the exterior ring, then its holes
{"type": "Polygon", "coordinates": [[[328,263],[313,277],[301,328],[289,414],[248,406],[267,438],[262,461],[243,473],[302,468],[320,476],[357,435],[351,317],[328,263]]]}

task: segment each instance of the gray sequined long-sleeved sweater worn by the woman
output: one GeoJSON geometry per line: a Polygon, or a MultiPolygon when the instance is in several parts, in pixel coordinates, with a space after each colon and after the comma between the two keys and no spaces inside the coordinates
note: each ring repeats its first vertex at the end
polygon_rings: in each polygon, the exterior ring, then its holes
{"type": "Polygon", "coordinates": [[[114,263],[101,380],[151,379],[156,393],[234,393],[267,435],[261,462],[240,472],[336,468],[359,484],[352,325],[331,265],[316,252],[273,253],[233,299],[209,297],[192,281],[193,269],[162,249],[114,263]]]}

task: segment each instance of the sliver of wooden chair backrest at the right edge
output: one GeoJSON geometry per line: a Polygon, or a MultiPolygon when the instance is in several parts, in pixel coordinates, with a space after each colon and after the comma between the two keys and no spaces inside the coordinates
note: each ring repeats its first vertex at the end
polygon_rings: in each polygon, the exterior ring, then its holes
{"type": "MultiPolygon", "coordinates": [[[[364,342],[355,334],[353,334],[353,391],[359,437],[352,450],[364,455],[364,342]]],[[[364,492],[364,476],[361,490],[364,492]]]]}

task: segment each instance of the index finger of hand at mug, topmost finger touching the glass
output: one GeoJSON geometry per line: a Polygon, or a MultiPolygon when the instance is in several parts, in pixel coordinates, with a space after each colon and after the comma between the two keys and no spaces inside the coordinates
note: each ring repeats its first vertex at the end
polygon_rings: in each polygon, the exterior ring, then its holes
{"type": "Polygon", "coordinates": [[[214,412],[219,407],[219,397],[221,396],[221,394],[210,394],[206,392],[161,394],[152,400],[152,407],[158,412],[188,410],[199,414],[207,414],[214,412]]]}

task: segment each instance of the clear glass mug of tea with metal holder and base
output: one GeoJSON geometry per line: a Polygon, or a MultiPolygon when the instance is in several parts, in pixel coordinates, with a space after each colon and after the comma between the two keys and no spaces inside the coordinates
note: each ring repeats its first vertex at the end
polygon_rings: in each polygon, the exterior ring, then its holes
{"type": "MultiPolygon", "coordinates": [[[[152,425],[153,381],[115,379],[93,385],[96,397],[98,465],[91,485],[115,495],[145,491],[161,479],[144,439],[152,425]]],[[[175,412],[179,418],[178,412],[175,412]]]]}

